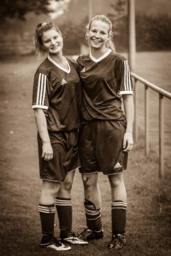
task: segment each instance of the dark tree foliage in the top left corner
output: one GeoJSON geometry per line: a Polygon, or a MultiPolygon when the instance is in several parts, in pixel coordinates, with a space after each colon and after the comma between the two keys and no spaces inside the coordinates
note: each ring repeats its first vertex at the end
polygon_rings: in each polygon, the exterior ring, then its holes
{"type": "MultiPolygon", "coordinates": [[[[55,0],[59,1],[59,0],[55,0]]],[[[0,19],[19,18],[25,20],[28,12],[34,11],[35,14],[48,14],[49,0],[1,0],[0,1],[0,19]]]]}

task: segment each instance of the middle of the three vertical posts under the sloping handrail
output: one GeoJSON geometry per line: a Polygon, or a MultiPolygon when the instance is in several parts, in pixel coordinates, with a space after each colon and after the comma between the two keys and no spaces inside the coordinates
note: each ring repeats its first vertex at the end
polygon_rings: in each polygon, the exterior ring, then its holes
{"type": "Polygon", "coordinates": [[[148,86],[145,85],[145,155],[149,154],[149,94],[148,86]]]}

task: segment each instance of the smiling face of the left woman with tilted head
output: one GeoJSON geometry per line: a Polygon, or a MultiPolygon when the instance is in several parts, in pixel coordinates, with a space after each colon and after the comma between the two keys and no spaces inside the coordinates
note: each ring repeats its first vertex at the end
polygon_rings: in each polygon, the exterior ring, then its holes
{"type": "Polygon", "coordinates": [[[43,49],[50,54],[57,54],[62,52],[63,39],[60,33],[51,28],[48,31],[43,32],[42,36],[43,49]]]}

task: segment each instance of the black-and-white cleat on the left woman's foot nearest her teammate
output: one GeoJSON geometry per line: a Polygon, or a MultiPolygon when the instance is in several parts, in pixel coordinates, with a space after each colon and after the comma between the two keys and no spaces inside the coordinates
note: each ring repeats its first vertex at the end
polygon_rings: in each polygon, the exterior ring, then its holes
{"type": "Polygon", "coordinates": [[[62,242],[70,242],[73,245],[88,245],[88,242],[79,238],[77,234],[73,233],[60,233],[60,241],[62,242]]]}

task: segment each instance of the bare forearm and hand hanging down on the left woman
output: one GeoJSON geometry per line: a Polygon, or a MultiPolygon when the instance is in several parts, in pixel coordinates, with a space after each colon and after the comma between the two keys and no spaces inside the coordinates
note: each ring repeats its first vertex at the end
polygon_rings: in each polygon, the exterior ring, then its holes
{"type": "Polygon", "coordinates": [[[45,118],[45,114],[42,109],[34,109],[35,113],[35,123],[38,129],[38,133],[43,142],[42,147],[42,158],[45,160],[53,159],[53,148],[50,144],[50,137],[48,134],[48,127],[45,118]]]}

